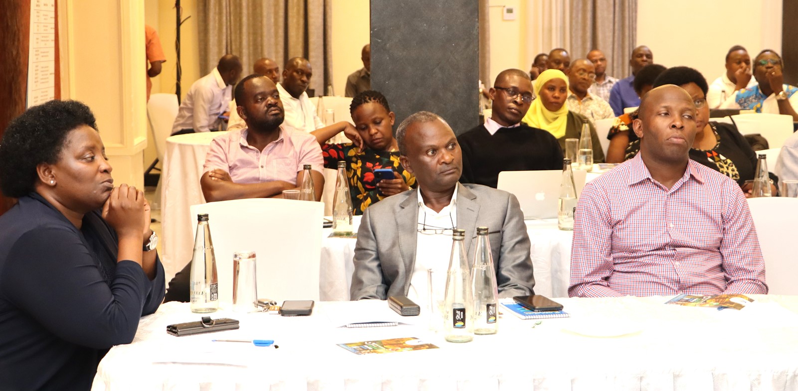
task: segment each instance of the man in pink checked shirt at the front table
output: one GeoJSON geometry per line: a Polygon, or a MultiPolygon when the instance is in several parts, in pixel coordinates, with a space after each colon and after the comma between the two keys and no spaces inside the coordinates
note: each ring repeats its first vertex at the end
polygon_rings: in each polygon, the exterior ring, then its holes
{"type": "Polygon", "coordinates": [[[740,186],[688,158],[695,115],[675,85],[643,97],[640,154],[579,197],[568,295],[768,293],[740,186]]]}

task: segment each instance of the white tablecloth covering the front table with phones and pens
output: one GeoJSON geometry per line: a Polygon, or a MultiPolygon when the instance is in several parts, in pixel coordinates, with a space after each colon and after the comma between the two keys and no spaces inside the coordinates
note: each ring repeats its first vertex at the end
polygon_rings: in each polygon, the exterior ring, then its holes
{"type": "Polygon", "coordinates": [[[93,390],[798,389],[798,296],[755,297],[742,311],[666,305],[665,297],[557,299],[571,318],[533,328],[504,314],[498,334],[464,344],[429,331],[425,311],[405,319],[417,326],[349,329],[330,321],[330,314],[389,311],[371,300],[316,303],[307,317],[220,311],[214,319],[239,319],[241,328],[173,337],[166,325],[199,315],[188,303],[166,303],[142,319],[134,342],[109,351],[93,390]],[[611,334],[623,335],[595,337],[611,334]],[[358,356],[336,345],[402,337],[440,349],[358,356]],[[215,338],[274,339],[279,349],[215,338]]]}

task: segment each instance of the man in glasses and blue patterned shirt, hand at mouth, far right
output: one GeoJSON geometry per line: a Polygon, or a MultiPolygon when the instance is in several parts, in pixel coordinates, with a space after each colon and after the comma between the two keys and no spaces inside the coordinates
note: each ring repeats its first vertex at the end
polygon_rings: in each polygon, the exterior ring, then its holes
{"type": "Polygon", "coordinates": [[[784,67],[778,53],[764,49],[753,61],[753,77],[757,85],[743,88],[721,104],[721,108],[754,110],[759,113],[791,115],[798,121],[798,88],[784,84],[784,67]]]}

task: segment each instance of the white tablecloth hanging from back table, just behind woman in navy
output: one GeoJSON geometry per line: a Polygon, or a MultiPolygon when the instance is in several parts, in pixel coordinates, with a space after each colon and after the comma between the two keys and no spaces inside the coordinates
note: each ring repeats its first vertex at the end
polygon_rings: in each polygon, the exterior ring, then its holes
{"type": "Polygon", "coordinates": [[[164,186],[160,198],[163,232],[159,234],[164,252],[160,254],[160,261],[164,264],[167,281],[192,259],[194,238],[191,227],[192,221],[196,224],[196,216],[192,218],[189,208],[205,202],[199,187],[205,154],[210,149],[211,140],[225,133],[192,133],[166,139],[164,170],[161,172],[164,186]]]}

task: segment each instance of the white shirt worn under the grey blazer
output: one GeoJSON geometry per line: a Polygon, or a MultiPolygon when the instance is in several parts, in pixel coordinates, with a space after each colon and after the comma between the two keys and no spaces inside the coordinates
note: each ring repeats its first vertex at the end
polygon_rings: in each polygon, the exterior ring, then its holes
{"type": "MultiPolygon", "coordinates": [[[[457,187],[454,188],[452,201],[440,209],[440,213],[429,209],[421,197],[421,188],[418,189],[418,228],[426,226],[428,229],[452,229],[457,226],[457,187]],[[433,228],[437,227],[437,228],[433,228]]],[[[440,233],[428,235],[416,233],[416,264],[413,275],[410,276],[410,288],[407,297],[416,302],[420,307],[429,304],[429,284],[427,283],[427,270],[433,269],[433,294],[437,300],[444,299],[446,289],[446,272],[448,271],[449,256],[452,255],[452,234],[440,233]]],[[[468,248],[466,248],[468,250],[468,248]]]]}

